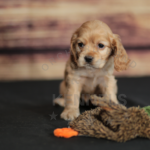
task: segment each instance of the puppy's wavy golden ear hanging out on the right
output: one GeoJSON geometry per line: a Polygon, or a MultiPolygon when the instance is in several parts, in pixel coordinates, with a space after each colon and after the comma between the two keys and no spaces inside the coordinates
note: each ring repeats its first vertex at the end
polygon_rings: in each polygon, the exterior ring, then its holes
{"type": "Polygon", "coordinates": [[[117,34],[113,34],[112,50],[114,53],[114,65],[116,71],[126,70],[130,63],[130,59],[124,49],[121,40],[117,34]]]}

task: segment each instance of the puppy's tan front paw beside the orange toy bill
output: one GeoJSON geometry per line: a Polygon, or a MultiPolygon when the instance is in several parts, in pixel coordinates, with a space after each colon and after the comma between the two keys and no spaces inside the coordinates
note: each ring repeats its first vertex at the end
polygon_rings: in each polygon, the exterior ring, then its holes
{"type": "Polygon", "coordinates": [[[65,108],[60,117],[65,120],[73,120],[80,115],[79,109],[65,108]]]}

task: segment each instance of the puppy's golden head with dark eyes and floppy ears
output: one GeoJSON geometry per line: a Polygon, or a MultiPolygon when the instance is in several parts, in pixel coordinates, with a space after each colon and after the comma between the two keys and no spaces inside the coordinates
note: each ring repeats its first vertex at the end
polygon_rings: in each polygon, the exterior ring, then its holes
{"type": "Polygon", "coordinates": [[[118,35],[99,20],[88,21],[71,38],[71,61],[78,67],[103,68],[114,57],[117,71],[127,69],[130,62],[118,35]]]}

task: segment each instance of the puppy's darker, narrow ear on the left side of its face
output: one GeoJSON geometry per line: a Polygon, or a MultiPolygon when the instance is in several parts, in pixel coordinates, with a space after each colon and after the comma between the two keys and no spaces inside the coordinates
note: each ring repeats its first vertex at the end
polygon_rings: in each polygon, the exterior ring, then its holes
{"type": "Polygon", "coordinates": [[[74,65],[77,65],[77,52],[76,52],[76,38],[77,38],[77,33],[75,32],[72,37],[71,37],[71,44],[70,44],[70,60],[74,65]]]}

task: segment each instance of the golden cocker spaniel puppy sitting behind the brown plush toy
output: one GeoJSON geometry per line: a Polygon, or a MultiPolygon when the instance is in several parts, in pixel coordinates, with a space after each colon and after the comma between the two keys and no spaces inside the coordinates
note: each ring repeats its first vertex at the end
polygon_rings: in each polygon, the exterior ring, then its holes
{"type": "Polygon", "coordinates": [[[76,118],[80,114],[80,97],[87,102],[91,94],[118,103],[113,72],[126,70],[129,62],[119,36],[105,23],[99,20],[83,23],[71,38],[70,58],[60,84],[62,98],[54,100],[64,106],[61,118],[76,118]]]}

